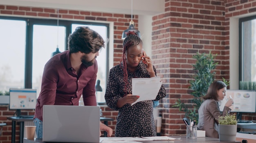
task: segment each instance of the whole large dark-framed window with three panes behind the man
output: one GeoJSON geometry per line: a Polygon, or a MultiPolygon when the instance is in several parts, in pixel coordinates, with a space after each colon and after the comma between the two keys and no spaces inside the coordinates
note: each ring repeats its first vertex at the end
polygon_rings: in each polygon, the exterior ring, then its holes
{"type": "Polygon", "coordinates": [[[67,39],[77,26],[89,26],[106,41],[98,61],[97,80],[100,80],[102,92],[97,93],[97,101],[105,102],[106,80],[108,77],[108,37],[109,24],[75,22],[67,20],[33,19],[18,17],[0,17],[0,36],[3,41],[0,57],[0,91],[9,88],[33,88],[40,93],[43,68],[56,51],[68,49],[67,39]],[[16,20],[18,19],[18,20],[16,20]],[[18,32],[17,32],[18,31],[18,32]],[[14,34],[15,33],[15,34],[14,34]]]}

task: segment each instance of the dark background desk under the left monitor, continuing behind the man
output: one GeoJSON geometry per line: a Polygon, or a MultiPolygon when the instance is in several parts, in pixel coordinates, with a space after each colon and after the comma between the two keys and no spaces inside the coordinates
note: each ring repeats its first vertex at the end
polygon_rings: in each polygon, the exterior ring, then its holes
{"type": "MultiPolygon", "coordinates": [[[[16,122],[20,122],[20,143],[23,143],[24,136],[24,121],[33,121],[33,118],[22,118],[22,117],[7,117],[11,120],[11,143],[15,143],[15,134],[16,134],[16,122]]],[[[112,118],[101,117],[101,121],[108,126],[108,121],[113,121],[112,118]]],[[[104,132],[104,137],[107,137],[107,132],[104,132]]]]}

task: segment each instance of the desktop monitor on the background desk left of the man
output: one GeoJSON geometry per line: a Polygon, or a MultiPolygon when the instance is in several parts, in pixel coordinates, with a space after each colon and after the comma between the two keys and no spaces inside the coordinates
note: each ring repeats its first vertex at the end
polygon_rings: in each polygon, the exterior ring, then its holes
{"type": "Polygon", "coordinates": [[[16,109],[17,116],[20,116],[22,109],[36,108],[36,89],[15,89],[10,88],[9,109],[16,109]]]}

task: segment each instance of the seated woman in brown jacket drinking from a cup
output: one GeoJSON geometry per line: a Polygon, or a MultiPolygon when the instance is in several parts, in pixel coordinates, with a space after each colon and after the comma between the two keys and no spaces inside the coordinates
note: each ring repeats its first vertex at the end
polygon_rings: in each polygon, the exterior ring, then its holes
{"type": "Polygon", "coordinates": [[[205,130],[206,137],[219,138],[217,119],[219,116],[225,116],[231,111],[229,107],[234,103],[232,99],[227,101],[223,112],[220,113],[218,101],[224,99],[226,91],[227,85],[224,82],[215,81],[210,85],[207,94],[203,97],[204,102],[198,109],[198,129],[205,130]]]}

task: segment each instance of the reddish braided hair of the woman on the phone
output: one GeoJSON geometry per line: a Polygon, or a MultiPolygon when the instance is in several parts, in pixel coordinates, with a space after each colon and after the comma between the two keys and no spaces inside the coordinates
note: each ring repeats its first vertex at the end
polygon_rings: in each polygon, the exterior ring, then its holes
{"type": "Polygon", "coordinates": [[[127,93],[127,86],[129,84],[127,63],[126,63],[126,51],[128,50],[129,47],[134,46],[134,45],[139,45],[139,44],[143,45],[143,42],[140,39],[140,37],[134,31],[129,31],[127,33],[126,39],[124,39],[124,42],[123,42],[123,56],[120,60],[120,67],[124,73],[124,82],[125,82],[124,93],[127,93]],[[123,62],[124,66],[121,66],[122,62],[123,62]]]}

